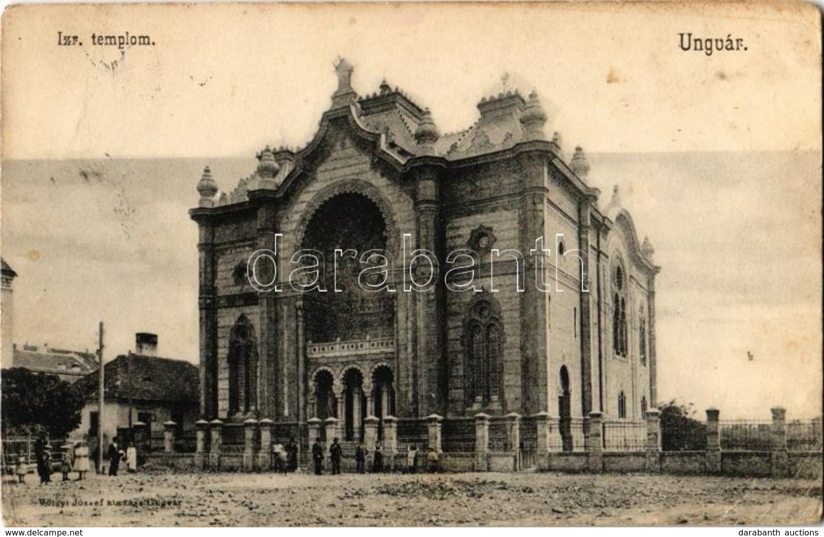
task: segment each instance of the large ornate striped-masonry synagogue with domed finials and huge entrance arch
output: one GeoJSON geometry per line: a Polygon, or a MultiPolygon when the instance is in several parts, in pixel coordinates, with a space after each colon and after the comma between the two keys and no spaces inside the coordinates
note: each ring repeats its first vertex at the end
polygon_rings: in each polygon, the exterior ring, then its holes
{"type": "Polygon", "coordinates": [[[643,420],[653,248],[536,92],[486,96],[447,134],[386,82],[359,96],[349,63],[336,74],[305,147],[197,186],[201,417],[336,418],[349,441],[372,417],[643,420]]]}

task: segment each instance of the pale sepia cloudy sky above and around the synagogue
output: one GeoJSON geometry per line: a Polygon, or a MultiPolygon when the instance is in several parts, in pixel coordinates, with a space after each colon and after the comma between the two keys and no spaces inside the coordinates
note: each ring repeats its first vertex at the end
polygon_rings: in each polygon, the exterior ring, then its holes
{"type": "Polygon", "coordinates": [[[149,331],[196,361],[200,171],[229,190],[265,144],[305,144],[344,56],[357,91],[386,78],[442,133],[472,124],[504,73],[536,89],[545,130],[588,152],[601,207],[618,184],[655,247],[659,399],[821,413],[818,25],[803,4],[12,8],[0,248],[20,274],[15,341],[94,348],[105,320],[109,356],[149,331]],[[125,30],[155,45],[91,46],[125,30]],[[87,42],[58,47],[57,31],[87,42]],[[685,52],[685,31],[748,50],[685,52]]]}

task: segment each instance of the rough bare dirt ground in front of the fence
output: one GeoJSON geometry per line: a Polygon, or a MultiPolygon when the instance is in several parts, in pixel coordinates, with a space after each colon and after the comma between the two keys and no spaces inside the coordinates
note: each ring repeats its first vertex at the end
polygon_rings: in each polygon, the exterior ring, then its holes
{"type": "Polygon", "coordinates": [[[24,526],[817,524],[817,481],[650,475],[125,474],[4,481],[24,526]]]}

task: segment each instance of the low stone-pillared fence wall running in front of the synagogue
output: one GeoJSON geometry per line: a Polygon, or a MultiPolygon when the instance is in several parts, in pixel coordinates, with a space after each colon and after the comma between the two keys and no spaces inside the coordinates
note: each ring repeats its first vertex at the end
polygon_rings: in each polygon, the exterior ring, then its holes
{"type": "MultiPolygon", "coordinates": [[[[372,470],[376,447],[382,449],[382,471],[442,472],[522,470],[562,472],[647,472],[651,474],[728,475],[747,477],[798,477],[821,479],[824,456],[821,421],[786,423],[784,410],[772,409],[765,422],[719,421],[719,411],[707,410],[707,421],[695,427],[705,433],[696,442],[703,450],[662,451],[657,409],[644,422],[603,422],[601,413],[590,413],[580,423],[539,413],[521,418],[515,413],[474,418],[427,418],[381,420],[367,418],[363,443],[369,454],[366,469],[372,470]],[[380,424],[380,428],[379,428],[380,424]],[[378,441],[378,431],[382,437],[378,441]],[[789,439],[792,439],[792,442],[789,439]],[[812,448],[791,451],[789,448],[812,448]],[[410,466],[410,448],[417,448],[410,466]]],[[[210,471],[269,471],[274,467],[273,445],[294,439],[300,467],[311,470],[311,443],[321,438],[324,469],[329,471],[329,442],[339,437],[335,418],[325,422],[275,424],[269,420],[224,425],[215,420],[199,422],[195,452],[176,453],[176,424],[165,423],[162,452],[145,454],[147,465],[173,469],[210,471]],[[311,441],[312,442],[311,442],[311,441]]],[[[356,471],[357,442],[340,442],[341,469],[356,471]]]]}

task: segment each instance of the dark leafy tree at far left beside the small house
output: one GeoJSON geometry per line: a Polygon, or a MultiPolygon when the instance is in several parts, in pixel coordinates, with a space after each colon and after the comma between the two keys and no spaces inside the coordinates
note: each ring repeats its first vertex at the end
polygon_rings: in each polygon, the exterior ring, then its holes
{"type": "Polygon", "coordinates": [[[85,398],[57,375],[25,367],[2,370],[3,436],[13,432],[49,432],[63,437],[80,425],[85,398]]]}

